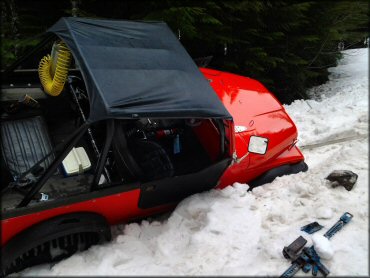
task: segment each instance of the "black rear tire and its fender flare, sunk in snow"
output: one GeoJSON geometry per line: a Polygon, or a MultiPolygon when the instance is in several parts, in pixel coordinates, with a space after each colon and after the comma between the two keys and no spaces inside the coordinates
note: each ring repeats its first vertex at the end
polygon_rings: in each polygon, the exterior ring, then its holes
{"type": "Polygon", "coordinates": [[[3,246],[2,276],[56,262],[77,251],[111,240],[106,219],[96,213],[70,213],[38,223],[3,246]]]}

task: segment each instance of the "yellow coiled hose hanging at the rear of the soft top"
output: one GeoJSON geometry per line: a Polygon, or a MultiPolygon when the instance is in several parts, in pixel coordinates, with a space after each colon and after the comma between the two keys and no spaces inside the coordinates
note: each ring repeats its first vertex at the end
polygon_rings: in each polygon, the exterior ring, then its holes
{"type": "Polygon", "coordinates": [[[41,59],[38,69],[41,84],[45,92],[51,96],[58,96],[62,92],[72,59],[71,52],[63,42],[59,43],[58,46],[59,51],[54,76],[52,76],[51,67],[53,61],[50,55],[46,55],[41,59]]]}

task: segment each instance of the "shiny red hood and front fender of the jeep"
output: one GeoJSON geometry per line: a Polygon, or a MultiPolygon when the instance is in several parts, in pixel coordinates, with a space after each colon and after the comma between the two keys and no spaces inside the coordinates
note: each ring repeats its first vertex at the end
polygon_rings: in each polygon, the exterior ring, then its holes
{"type": "Polygon", "coordinates": [[[219,183],[223,188],[234,182],[247,183],[262,173],[304,159],[296,147],[297,128],[284,107],[260,82],[211,69],[201,69],[220,100],[233,116],[235,126],[246,131],[235,133],[235,153],[241,161],[231,165],[219,183]],[[264,155],[248,153],[251,135],[269,139],[264,155]]]}

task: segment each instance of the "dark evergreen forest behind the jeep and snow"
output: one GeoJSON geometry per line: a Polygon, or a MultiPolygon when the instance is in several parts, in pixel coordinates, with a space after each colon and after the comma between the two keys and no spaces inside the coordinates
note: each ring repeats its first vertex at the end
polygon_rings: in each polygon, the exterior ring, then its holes
{"type": "MultiPolygon", "coordinates": [[[[1,67],[62,16],[165,21],[210,68],[258,79],[283,103],[328,79],[340,49],[366,47],[369,1],[58,0],[1,2],[1,67]]],[[[36,67],[37,65],[35,65],[36,67]]]]}

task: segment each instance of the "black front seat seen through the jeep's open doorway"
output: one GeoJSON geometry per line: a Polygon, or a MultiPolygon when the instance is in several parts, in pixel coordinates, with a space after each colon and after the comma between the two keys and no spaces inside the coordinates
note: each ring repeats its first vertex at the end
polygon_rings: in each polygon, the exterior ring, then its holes
{"type": "Polygon", "coordinates": [[[174,175],[174,167],[164,148],[151,140],[130,138],[118,124],[113,139],[118,172],[125,180],[151,181],[174,175]]]}

